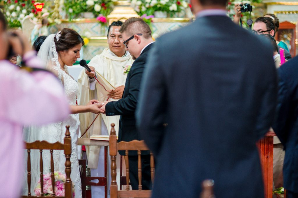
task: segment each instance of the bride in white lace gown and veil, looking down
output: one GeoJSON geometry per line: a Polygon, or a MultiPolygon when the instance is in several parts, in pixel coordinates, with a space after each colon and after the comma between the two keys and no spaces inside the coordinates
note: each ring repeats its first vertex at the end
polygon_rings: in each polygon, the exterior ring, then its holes
{"type": "MultiPolygon", "coordinates": [[[[50,71],[54,72],[64,86],[70,115],[66,120],[47,126],[30,126],[24,129],[24,140],[34,142],[35,140],[46,140],[48,142],[63,142],[65,126],[69,125],[69,132],[72,138],[71,154],[71,179],[75,185],[75,197],[82,197],[82,188],[79,172],[77,139],[79,134],[80,122],[77,113],[99,113],[99,101],[91,100],[87,105],[76,105],[78,93],[77,82],[69,75],[67,66],[72,66],[77,58],[80,58],[80,49],[84,45],[82,37],[73,29],[63,28],[57,34],[49,35],[38,52],[38,58],[47,64],[50,71]]],[[[54,90],[55,91],[55,90],[54,90]]],[[[46,105],[46,104],[44,104],[46,105]]],[[[39,107],[36,107],[39,108],[39,107]]],[[[31,151],[31,192],[39,180],[39,151],[31,151]]],[[[65,173],[65,156],[63,151],[54,151],[54,170],[65,173]]],[[[43,151],[44,174],[50,170],[50,153],[48,150],[43,151]]],[[[25,172],[27,174],[27,172],[25,172]]],[[[27,177],[25,177],[27,178],[27,177]]],[[[27,183],[27,182],[26,182],[27,183]]],[[[27,194],[27,185],[24,185],[23,194],[27,194]]]]}

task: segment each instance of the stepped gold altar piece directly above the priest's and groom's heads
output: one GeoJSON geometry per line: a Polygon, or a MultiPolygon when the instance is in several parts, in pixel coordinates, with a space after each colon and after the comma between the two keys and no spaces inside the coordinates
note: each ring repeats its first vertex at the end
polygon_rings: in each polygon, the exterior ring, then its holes
{"type": "Polygon", "coordinates": [[[107,16],[109,25],[116,20],[125,21],[131,17],[139,17],[136,11],[130,6],[130,2],[120,0],[117,1],[115,5],[114,10],[107,16]]]}

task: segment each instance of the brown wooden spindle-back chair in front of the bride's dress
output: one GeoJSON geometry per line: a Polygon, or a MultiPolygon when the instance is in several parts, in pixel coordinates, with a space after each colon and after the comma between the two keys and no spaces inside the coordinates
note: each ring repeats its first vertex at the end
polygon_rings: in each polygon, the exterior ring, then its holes
{"type": "MultiPolygon", "coordinates": [[[[42,159],[42,151],[43,150],[50,150],[51,153],[51,179],[52,179],[52,188],[55,189],[55,178],[54,178],[54,160],[53,160],[53,150],[64,150],[65,154],[65,173],[66,173],[66,181],[64,182],[64,189],[65,189],[65,198],[72,198],[72,180],[70,179],[70,172],[71,172],[71,164],[70,164],[70,155],[72,153],[72,145],[71,145],[71,138],[69,133],[69,126],[66,126],[66,132],[64,137],[64,144],[60,142],[49,143],[47,141],[35,141],[32,143],[25,142],[25,147],[27,149],[28,158],[27,158],[27,184],[28,184],[28,195],[21,196],[24,197],[45,197],[42,191],[41,196],[32,196],[30,192],[31,188],[31,161],[30,161],[30,151],[31,149],[38,149],[40,152],[40,181],[41,181],[41,189],[43,189],[43,181],[44,181],[44,170],[43,170],[43,159],[42,159]]],[[[49,196],[46,196],[49,197],[49,196]]],[[[52,193],[50,197],[57,197],[55,196],[55,192],[52,193]]]]}

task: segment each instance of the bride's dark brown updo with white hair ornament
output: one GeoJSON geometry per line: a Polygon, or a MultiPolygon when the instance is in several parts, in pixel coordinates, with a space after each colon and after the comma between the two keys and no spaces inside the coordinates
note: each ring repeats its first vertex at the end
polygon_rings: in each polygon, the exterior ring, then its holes
{"type": "Polygon", "coordinates": [[[85,44],[80,34],[71,28],[63,28],[58,32],[54,37],[54,42],[58,53],[65,50],[67,51],[80,43],[82,43],[82,45],[85,44]]]}

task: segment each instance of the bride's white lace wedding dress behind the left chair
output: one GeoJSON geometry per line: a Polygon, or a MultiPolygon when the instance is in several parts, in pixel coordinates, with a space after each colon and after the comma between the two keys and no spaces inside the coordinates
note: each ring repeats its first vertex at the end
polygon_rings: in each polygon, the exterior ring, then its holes
{"type": "MultiPolygon", "coordinates": [[[[50,35],[51,36],[51,35],[50,35]]],[[[48,36],[48,37],[50,37],[48,36]]],[[[53,38],[53,36],[52,36],[53,38]]],[[[47,38],[48,39],[48,38],[47,38]]],[[[46,41],[45,41],[46,42],[46,41]]],[[[44,45],[44,44],[43,44],[44,45]]],[[[43,47],[43,46],[42,46],[43,47]]],[[[66,96],[68,97],[68,104],[76,105],[76,99],[78,94],[78,85],[77,82],[68,74],[67,66],[64,66],[65,71],[60,69],[60,64],[58,62],[58,54],[55,50],[55,46],[52,46],[52,53],[55,57],[55,65],[51,70],[57,74],[58,79],[64,86],[66,96]],[[57,55],[57,56],[56,56],[57,55]]],[[[54,59],[53,59],[54,60],[54,59]]],[[[46,105],[46,104],[44,104],[46,105]]],[[[38,107],[36,107],[38,108],[38,107]]],[[[80,128],[80,121],[78,114],[70,114],[68,118],[58,123],[52,123],[46,126],[30,126],[24,128],[23,138],[26,142],[34,142],[36,140],[46,140],[50,143],[54,142],[64,142],[63,138],[65,137],[65,126],[69,125],[69,132],[72,139],[72,154],[70,157],[71,161],[71,174],[70,178],[72,183],[75,185],[75,197],[82,197],[82,186],[80,179],[79,171],[79,161],[78,161],[78,151],[77,151],[77,139],[80,128]]],[[[31,194],[34,193],[34,188],[36,187],[38,180],[40,178],[40,153],[38,150],[32,150],[30,153],[31,158],[31,194]]],[[[25,155],[27,159],[27,152],[25,155]]],[[[44,174],[50,172],[50,152],[49,150],[43,151],[43,164],[44,164],[44,174]]],[[[65,174],[65,155],[64,151],[54,150],[53,152],[54,159],[54,171],[58,171],[65,174]]],[[[27,161],[26,161],[26,170],[24,171],[24,178],[26,182],[23,187],[23,194],[27,194],[27,161]]]]}

